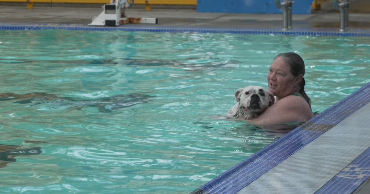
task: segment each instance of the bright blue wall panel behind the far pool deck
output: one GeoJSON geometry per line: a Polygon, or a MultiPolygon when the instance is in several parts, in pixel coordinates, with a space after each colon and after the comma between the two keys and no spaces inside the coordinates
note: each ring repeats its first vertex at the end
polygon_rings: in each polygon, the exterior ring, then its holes
{"type": "MultiPolygon", "coordinates": [[[[280,0],[283,1],[283,0],[280,0]]],[[[293,14],[310,14],[313,0],[293,0],[293,14]]],[[[283,13],[274,0],[198,0],[198,12],[283,13]]]]}

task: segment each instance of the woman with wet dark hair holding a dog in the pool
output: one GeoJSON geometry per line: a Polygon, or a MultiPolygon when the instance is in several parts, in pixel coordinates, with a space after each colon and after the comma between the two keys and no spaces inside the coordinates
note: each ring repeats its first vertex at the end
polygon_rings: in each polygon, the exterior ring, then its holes
{"type": "Polygon", "coordinates": [[[305,62],[298,54],[286,52],[277,55],[267,75],[268,90],[276,96],[275,104],[248,122],[263,127],[295,127],[313,118],[311,100],[305,92],[304,75],[305,62]]]}

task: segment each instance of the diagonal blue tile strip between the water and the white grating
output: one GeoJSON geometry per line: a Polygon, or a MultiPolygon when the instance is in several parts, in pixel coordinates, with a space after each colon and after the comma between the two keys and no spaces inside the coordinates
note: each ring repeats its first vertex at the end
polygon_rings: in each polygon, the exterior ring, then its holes
{"type": "Polygon", "coordinates": [[[370,83],[191,194],[235,194],[369,102],[370,83]]]}

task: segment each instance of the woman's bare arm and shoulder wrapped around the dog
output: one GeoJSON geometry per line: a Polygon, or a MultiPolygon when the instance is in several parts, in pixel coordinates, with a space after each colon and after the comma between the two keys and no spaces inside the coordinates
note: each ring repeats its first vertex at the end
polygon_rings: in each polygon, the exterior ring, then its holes
{"type": "Polygon", "coordinates": [[[301,96],[286,96],[270,106],[265,112],[249,123],[258,126],[298,124],[313,118],[308,103],[301,96]]]}

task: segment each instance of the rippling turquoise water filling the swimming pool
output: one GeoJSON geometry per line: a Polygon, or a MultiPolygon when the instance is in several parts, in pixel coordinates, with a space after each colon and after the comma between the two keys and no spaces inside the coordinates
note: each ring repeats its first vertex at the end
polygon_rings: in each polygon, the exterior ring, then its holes
{"type": "Polygon", "coordinates": [[[305,59],[306,92],[322,112],[370,82],[368,42],[0,31],[0,193],[190,193],[282,136],[215,117],[238,88],[267,87],[273,57],[305,59]]]}

